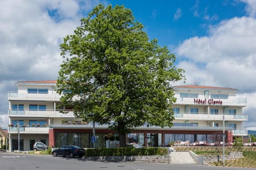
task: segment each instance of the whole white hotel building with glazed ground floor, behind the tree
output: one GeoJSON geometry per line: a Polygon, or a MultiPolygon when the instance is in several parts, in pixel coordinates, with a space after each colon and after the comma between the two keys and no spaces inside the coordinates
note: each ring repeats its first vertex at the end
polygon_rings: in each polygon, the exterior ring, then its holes
{"type": "MultiPolygon", "coordinates": [[[[18,81],[18,91],[9,92],[9,150],[32,150],[41,141],[50,147],[72,144],[83,148],[116,147],[118,134],[107,125],[82,122],[67,108],[60,111],[57,81],[18,81]]],[[[141,126],[127,134],[127,143],[143,146],[166,146],[171,141],[222,140],[226,142],[247,135],[243,123],[245,98],[236,97],[238,90],[209,86],[174,86],[177,101],[173,104],[175,120],[172,128],[141,126]]]]}

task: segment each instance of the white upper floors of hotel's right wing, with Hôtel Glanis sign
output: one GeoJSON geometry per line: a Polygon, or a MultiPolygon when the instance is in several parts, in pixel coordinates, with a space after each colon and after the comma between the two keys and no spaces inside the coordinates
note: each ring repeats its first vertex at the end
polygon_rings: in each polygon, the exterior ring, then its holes
{"type": "Polygon", "coordinates": [[[247,135],[243,123],[246,98],[237,98],[237,89],[206,86],[175,86],[175,123],[194,123],[198,127],[231,128],[234,137],[247,135]],[[176,111],[175,111],[176,109],[176,111]]]}

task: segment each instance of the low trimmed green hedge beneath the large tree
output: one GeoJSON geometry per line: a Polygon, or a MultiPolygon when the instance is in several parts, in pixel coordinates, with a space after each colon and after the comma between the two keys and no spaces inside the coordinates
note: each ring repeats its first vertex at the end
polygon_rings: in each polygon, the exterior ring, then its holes
{"type": "Polygon", "coordinates": [[[166,148],[97,148],[86,149],[85,156],[141,156],[141,155],[167,155],[166,148]]]}

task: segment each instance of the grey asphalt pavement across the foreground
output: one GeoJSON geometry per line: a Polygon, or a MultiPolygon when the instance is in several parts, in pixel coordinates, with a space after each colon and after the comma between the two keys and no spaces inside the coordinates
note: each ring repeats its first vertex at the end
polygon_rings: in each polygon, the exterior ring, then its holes
{"type": "Polygon", "coordinates": [[[52,157],[51,155],[31,155],[0,152],[0,170],[198,170],[198,169],[227,169],[247,170],[252,168],[215,167],[197,164],[159,164],[140,162],[94,162],[83,158],[52,157]]]}

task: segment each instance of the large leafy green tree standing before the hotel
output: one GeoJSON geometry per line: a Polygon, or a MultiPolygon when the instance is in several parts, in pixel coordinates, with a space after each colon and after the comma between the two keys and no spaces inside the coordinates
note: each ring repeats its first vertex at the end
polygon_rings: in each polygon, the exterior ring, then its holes
{"type": "Polygon", "coordinates": [[[100,4],[60,45],[62,105],[76,117],[109,124],[121,147],[125,134],[138,126],[172,126],[171,83],[183,79],[183,70],[173,65],[175,56],[149,41],[134,20],[124,6],[100,4]]]}

